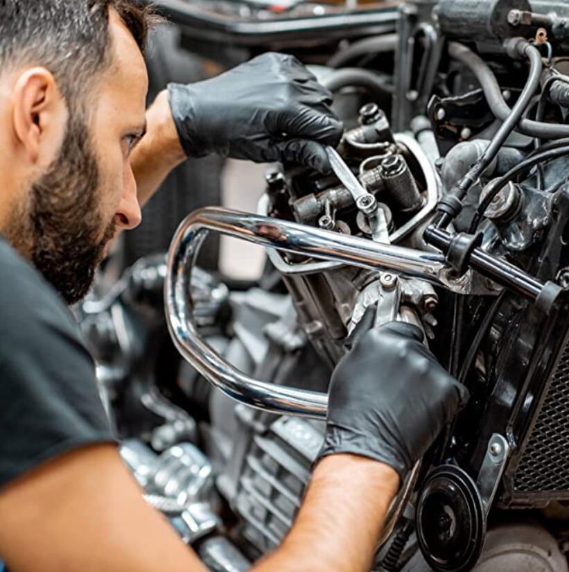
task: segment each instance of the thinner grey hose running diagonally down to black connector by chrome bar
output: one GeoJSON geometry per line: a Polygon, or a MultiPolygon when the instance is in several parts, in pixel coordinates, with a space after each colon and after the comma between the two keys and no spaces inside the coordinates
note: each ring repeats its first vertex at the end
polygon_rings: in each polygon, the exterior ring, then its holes
{"type": "MultiPolygon", "coordinates": [[[[522,93],[520,94],[518,101],[516,101],[514,109],[509,112],[508,116],[505,118],[505,121],[502,123],[502,125],[500,125],[496,135],[492,137],[489,145],[484,150],[482,155],[480,155],[473,166],[469,168],[469,171],[466,173],[466,175],[464,175],[464,177],[462,177],[462,179],[455,185],[452,191],[450,191],[449,194],[453,195],[455,200],[462,202],[466,196],[466,193],[469,192],[469,189],[471,189],[473,184],[478,182],[482,173],[484,173],[489,164],[491,164],[496,155],[498,155],[498,152],[502,146],[504,146],[507,138],[511,132],[514,131],[516,124],[518,121],[520,121],[521,116],[523,116],[523,112],[532,101],[534,93],[539,87],[539,79],[541,78],[541,71],[543,69],[541,53],[539,53],[539,50],[531,44],[526,44],[524,46],[523,53],[529,59],[529,76],[522,90],[522,93]]],[[[478,58],[478,56],[476,57],[478,58]]],[[[444,199],[441,202],[444,202],[444,199]]],[[[455,208],[455,211],[459,211],[459,207],[455,208]]],[[[440,228],[446,227],[451,220],[453,220],[453,216],[451,216],[450,213],[443,211],[443,209],[440,209],[439,215],[435,221],[435,225],[440,228]]]]}

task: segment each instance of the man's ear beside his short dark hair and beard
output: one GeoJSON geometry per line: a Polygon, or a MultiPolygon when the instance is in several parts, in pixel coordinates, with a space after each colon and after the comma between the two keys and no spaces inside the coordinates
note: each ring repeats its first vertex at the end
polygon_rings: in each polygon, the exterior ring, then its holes
{"type": "Polygon", "coordinates": [[[14,133],[32,164],[47,166],[60,148],[67,105],[53,74],[44,67],[18,76],[13,91],[14,133]]]}

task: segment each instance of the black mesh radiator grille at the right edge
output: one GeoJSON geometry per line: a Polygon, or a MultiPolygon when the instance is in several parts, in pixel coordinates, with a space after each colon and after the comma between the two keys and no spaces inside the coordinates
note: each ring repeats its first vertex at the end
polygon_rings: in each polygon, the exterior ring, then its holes
{"type": "Polygon", "coordinates": [[[569,491],[569,343],[566,343],[514,480],[516,492],[569,491]]]}

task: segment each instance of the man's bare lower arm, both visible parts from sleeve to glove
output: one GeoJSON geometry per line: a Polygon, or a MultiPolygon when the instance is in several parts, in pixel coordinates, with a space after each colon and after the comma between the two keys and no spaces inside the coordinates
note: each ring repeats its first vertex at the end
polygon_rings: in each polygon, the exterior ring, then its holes
{"type": "MultiPolygon", "coordinates": [[[[398,482],[375,461],[322,460],[292,532],[253,571],[369,571],[398,482]]],[[[112,445],[67,453],[4,489],[0,557],[12,572],[205,572],[112,445]]]]}

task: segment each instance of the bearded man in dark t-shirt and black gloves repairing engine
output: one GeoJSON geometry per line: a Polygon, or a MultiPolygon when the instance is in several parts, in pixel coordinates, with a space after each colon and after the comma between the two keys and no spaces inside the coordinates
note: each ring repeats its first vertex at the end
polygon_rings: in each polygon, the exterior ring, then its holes
{"type": "MultiPolygon", "coordinates": [[[[63,300],[85,294],[116,230],[139,223],[139,202],[186,155],[326,171],[322,144],[341,135],[329,94],[275,54],[170,86],[145,117],[147,26],[132,0],[0,2],[0,558],[12,572],[204,570],[123,466],[63,300]]],[[[466,399],[421,338],[407,324],[364,331],[340,363],[304,505],[255,571],[369,570],[401,478],[466,399]]]]}

